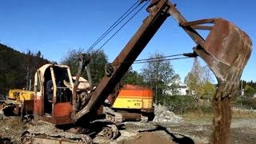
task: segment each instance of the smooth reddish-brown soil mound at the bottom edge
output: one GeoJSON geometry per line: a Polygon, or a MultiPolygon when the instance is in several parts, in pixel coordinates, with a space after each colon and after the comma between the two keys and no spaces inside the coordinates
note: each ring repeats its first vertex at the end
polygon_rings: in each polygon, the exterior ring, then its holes
{"type": "Polygon", "coordinates": [[[134,139],[126,140],[123,144],[174,144],[175,142],[170,142],[166,138],[160,137],[158,134],[153,134],[150,132],[142,132],[138,134],[134,139]]]}

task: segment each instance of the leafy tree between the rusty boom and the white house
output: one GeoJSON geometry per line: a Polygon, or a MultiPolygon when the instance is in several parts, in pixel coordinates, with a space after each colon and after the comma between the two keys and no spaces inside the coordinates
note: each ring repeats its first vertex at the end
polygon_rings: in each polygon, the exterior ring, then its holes
{"type": "Polygon", "coordinates": [[[154,60],[147,62],[142,68],[142,77],[146,85],[154,90],[154,102],[158,103],[158,100],[170,93],[177,94],[175,82],[179,76],[162,54],[154,53],[150,55],[151,58],[154,60]]]}

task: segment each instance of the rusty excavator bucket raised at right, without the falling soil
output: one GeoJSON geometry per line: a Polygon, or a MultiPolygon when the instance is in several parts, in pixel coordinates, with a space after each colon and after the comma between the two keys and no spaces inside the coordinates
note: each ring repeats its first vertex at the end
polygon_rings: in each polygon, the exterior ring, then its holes
{"type": "Polygon", "coordinates": [[[242,70],[250,58],[251,46],[245,32],[231,22],[217,18],[203,48],[197,46],[194,49],[218,80],[216,98],[230,97],[238,89],[242,70]]]}

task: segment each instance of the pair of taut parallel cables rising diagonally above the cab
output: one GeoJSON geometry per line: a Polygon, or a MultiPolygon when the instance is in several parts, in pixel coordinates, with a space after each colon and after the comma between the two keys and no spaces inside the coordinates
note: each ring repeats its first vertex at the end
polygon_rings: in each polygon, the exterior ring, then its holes
{"type": "Polygon", "coordinates": [[[122,22],[127,16],[129,16],[135,9],[138,8],[138,6],[136,6],[133,10],[131,10],[136,4],[138,4],[139,0],[137,2],[134,3],[133,6],[130,6],[130,8],[128,10],[126,10],[126,12],[124,14],[122,14],[122,16],[120,18],[118,18],[118,20],[116,22],[114,22],[113,25],[111,25],[90,47],[88,50],[86,50],[86,53],[89,53],[90,50],[92,50],[94,48],[94,46],[96,46],[98,44],[98,42],[101,42],[103,38],[106,37],[107,34],[109,34],[112,30],[114,30],[114,28],[116,26],[118,26],[120,24],[120,22],[122,22]],[[130,11],[131,10],[131,11],[130,11]],[[130,11],[129,14],[127,14],[130,11]],[[124,17],[124,18],[123,18],[124,17]]]}

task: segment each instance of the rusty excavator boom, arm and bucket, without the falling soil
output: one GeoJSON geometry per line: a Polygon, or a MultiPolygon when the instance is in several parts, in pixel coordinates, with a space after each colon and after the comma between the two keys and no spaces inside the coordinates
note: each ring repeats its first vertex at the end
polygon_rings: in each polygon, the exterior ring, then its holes
{"type": "MultiPolygon", "coordinates": [[[[172,15],[179,26],[181,26],[196,43],[197,46],[194,47],[192,56],[199,56],[205,60],[207,65],[210,66],[210,69],[216,74],[218,82],[220,82],[219,78],[225,74],[229,75],[230,73],[228,73],[228,71],[223,71],[228,70],[229,68],[222,69],[223,66],[221,66],[221,64],[217,65],[216,62],[226,63],[229,61],[236,61],[239,63],[239,65],[234,63],[227,65],[230,67],[238,66],[238,69],[234,70],[234,73],[237,75],[234,77],[235,79],[232,78],[235,82],[239,81],[242,70],[250,57],[251,42],[250,38],[242,32],[242,30],[238,29],[237,26],[234,26],[222,18],[210,18],[187,22],[182,14],[176,9],[175,5],[169,0],[152,0],[147,11],[150,14],[143,21],[142,26],[130,39],[130,42],[126,44],[121,53],[118,54],[117,58],[114,59],[112,65],[106,66],[106,76],[102,78],[102,81],[99,83],[96,90],[94,90],[90,102],[88,102],[82,110],[78,111],[77,114],[74,114],[74,119],[76,121],[78,121],[79,118],[86,117],[86,114],[97,110],[98,107],[102,105],[104,100],[110,94],[110,91],[114,89],[114,86],[116,86],[134,60],[138,58],[138,55],[145,48],[146,44],[150,42],[150,39],[157,32],[158,28],[162,26],[162,23],[165,22],[166,18],[170,15],[172,15]],[[213,23],[214,26],[202,26],[202,24],[206,23],[213,23]],[[227,27],[229,28],[229,31],[225,30],[227,27]],[[196,29],[210,30],[210,34],[205,40],[198,34],[196,29]],[[239,51],[242,49],[242,53],[234,54],[230,58],[223,57],[228,51],[239,51]],[[234,58],[240,59],[235,60],[234,58]],[[219,70],[222,70],[221,74],[219,70]]],[[[238,83],[236,83],[234,88],[237,85],[238,83]]]]}

